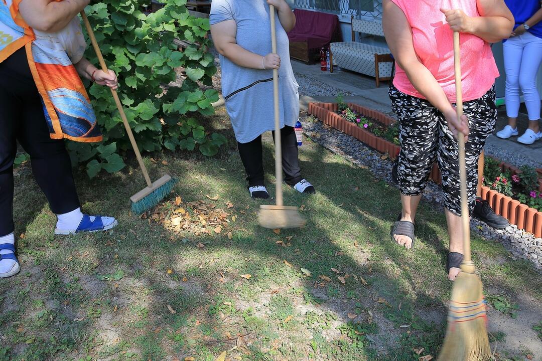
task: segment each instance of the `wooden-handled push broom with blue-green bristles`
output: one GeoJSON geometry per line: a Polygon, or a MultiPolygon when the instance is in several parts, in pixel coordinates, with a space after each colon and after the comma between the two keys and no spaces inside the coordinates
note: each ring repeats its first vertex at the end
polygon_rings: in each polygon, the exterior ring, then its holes
{"type": "MultiPolygon", "coordinates": [[[[94,36],[94,32],[92,31],[91,24],[88,22],[85,11],[81,11],[81,17],[83,19],[83,22],[85,23],[88,37],[91,38],[92,46],[94,48],[94,51],[96,52],[96,56],[98,56],[100,67],[102,68],[102,70],[105,71],[106,74],[109,74],[107,70],[107,65],[104,61],[104,56],[102,56],[101,54],[100,47],[98,46],[98,42],[96,41],[96,37],[94,36]]],[[[173,189],[175,182],[173,181],[171,176],[167,174],[154,183],[151,181],[151,178],[149,177],[149,172],[147,172],[147,168],[145,167],[145,163],[143,162],[143,158],[141,158],[141,153],[139,153],[139,148],[137,146],[137,143],[135,142],[132,129],[130,128],[130,124],[128,123],[128,119],[126,118],[126,114],[124,113],[124,109],[122,109],[122,103],[120,102],[117,90],[111,89],[111,94],[113,94],[113,99],[115,100],[115,104],[117,104],[117,109],[119,109],[120,117],[122,119],[122,122],[124,123],[124,127],[126,128],[126,133],[130,138],[132,148],[134,149],[135,156],[137,157],[137,160],[139,162],[139,167],[141,168],[141,172],[143,173],[143,176],[147,183],[146,188],[141,189],[141,191],[135,193],[130,197],[130,200],[132,201],[132,211],[134,213],[141,214],[149,210],[150,208],[156,206],[160,201],[166,198],[166,196],[170,194],[171,189],[173,189]]]]}

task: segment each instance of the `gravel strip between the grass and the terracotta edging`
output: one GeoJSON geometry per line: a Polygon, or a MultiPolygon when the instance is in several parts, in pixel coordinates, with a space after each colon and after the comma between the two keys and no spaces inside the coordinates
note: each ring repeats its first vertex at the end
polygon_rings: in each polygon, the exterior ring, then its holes
{"type": "MultiPolygon", "coordinates": [[[[356,165],[368,168],[376,178],[383,179],[397,188],[391,180],[392,161],[390,159],[381,159],[381,153],[365,146],[354,137],[341,133],[318,120],[312,120],[313,118],[305,112],[302,113],[300,119],[305,135],[311,137],[314,142],[356,165]]],[[[433,204],[438,211],[443,211],[442,189],[435,183],[428,183],[422,198],[433,204]]],[[[542,238],[534,238],[534,235],[525,233],[514,225],[506,229],[494,229],[474,218],[470,222],[470,228],[483,239],[500,241],[511,253],[512,259],[530,260],[542,273],[542,238]]]]}

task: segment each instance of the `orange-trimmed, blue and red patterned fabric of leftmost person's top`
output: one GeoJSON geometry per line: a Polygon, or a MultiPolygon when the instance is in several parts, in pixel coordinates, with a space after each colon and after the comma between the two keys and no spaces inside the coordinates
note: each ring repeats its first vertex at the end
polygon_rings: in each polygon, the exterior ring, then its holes
{"type": "Polygon", "coordinates": [[[0,0],[0,62],[25,47],[51,139],[101,141],[87,91],[66,51],[54,36],[36,34],[25,23],[21,1],[0,0]]]}

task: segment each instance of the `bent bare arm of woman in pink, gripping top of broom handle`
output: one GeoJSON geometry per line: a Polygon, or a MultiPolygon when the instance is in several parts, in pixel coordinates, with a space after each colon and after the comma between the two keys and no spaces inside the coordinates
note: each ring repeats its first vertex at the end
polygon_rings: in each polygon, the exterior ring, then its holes
{"type": "Polygon", "coordinates": [[[462,10],[441,9],[451,30],[468,32],[488,43],[506,39],[512,33],[514,16],[504,0],[478,0],[480,16],[467,16],[462,10]]]}

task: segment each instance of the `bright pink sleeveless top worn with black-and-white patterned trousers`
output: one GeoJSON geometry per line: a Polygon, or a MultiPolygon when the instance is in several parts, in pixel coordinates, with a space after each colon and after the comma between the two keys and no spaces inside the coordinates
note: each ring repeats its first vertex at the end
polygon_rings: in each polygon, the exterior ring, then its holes
{"type": "MultiPolygon", "coordinates": [[[[412,29],[414,50],[435,76],[450,102],[455,102],[453,31],[440,11],[461,9],[468,16],[480,16],[476,0],[391,0],[401,10],[412,29]]],[[[499,76],[489,43],[472,34],[460,35],[463,101],[484,95],[499,76]]],[[[412,86],[403,69],[397,67],[393,85],[403,93],[424,99],[412,86]]]]}

